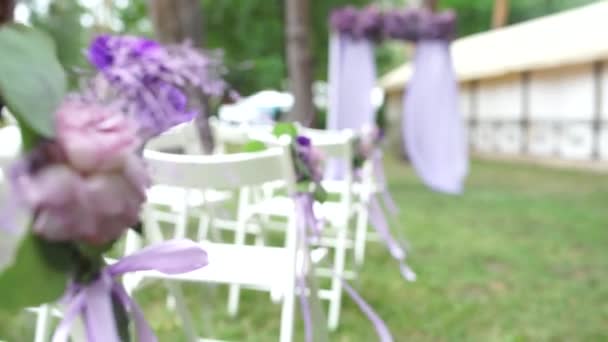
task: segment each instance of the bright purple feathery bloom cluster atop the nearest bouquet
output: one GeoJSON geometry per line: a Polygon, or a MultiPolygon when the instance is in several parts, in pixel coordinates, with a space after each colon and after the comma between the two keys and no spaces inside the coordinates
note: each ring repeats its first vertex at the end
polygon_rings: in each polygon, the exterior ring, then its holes
{"type": "Polygon", "coordinates": [[[189,43],[165,47],[140,37],[104,35],[93,41],[88,57],[99,71],[90,95],[118,103],[138,121],[144,140],[197,115],[189,109],[187,91],[220,96],[226,90],[221,63],[189,43]]]}

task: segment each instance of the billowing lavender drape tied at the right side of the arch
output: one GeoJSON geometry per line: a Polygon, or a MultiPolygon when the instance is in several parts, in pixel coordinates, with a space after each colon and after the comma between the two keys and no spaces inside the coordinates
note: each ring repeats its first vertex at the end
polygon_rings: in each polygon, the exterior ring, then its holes
{"type": "Polygon", "coordinates": [[[414,169],[430,188],[461,193],[468,151],[448,41],[418,42],[403,105],[404,144],[414,169]]]}

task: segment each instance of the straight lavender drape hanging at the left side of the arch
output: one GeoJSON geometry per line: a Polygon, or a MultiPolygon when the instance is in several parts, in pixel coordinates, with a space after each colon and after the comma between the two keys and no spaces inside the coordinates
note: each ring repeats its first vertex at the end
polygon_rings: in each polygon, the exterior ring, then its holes
{"type": "MultiPolygon", "coordinates": [[[[360,131],[365,125],[372,125],[375,84],[374,43],[333,33],[329,46],[327,129],[360,131]]],[[[341,179],[345,170],[345,161],[329,160],[325,178],[341,179]]]]}

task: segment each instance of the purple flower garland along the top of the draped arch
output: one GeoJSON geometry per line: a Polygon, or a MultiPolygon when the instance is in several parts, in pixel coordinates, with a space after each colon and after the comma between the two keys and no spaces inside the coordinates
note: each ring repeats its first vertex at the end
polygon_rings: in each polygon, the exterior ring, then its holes
{"type": "Polygon", "coordinates": [[[330,26],[351,39],[380,42],[384,39],[418,41],[449,40],[453,37],[456,15],[453,11],[433,13],[428,9],[382,12],[370,5],[338,8],[331,13],[330,26]]]}

